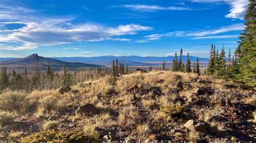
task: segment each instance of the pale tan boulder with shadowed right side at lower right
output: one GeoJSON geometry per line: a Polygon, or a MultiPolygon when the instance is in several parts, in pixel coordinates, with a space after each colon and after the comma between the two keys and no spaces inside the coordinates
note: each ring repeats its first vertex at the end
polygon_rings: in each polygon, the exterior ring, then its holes
{"type": "Polygon", "coordinates": [[[184,127],[191,131],[206,132],[210,128],[210,125],[204,121],[194,121],[191,119],[184,124],[184,127]]]}

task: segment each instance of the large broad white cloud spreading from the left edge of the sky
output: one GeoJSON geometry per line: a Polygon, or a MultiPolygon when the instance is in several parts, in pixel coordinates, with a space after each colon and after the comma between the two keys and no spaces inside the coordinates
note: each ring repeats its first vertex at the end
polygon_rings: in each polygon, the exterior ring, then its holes
{"type": "MultiPolygon", "coordinates": [[[[139,31],[152,30],[152,27],[139,24],[126,24],[118,26],[104,26],[96,23],[73,24],[73,16],[51,17],[37,16],[36,10],[27,9],[18,6],[18,11],[30,13],[24,15],[14,11],[14,7],[6,4],[0,4],[0,23],[16,23],[25,26],[15,30],[0,28],[0,39],[6,45],[0,49],[5,50],[24,50],[35,49],[38,46],[51,46],[58,44],[67,44],[76,41],[129,41],[130,39],[117,38],[121,35],[137,34],[139,31]],[[2,13],[2,10],[4,11],[2,13]],[[12,44],[20,46],[11,46],[12,44]]],[[[1,25],[0,25],[1,26],[1,25]]]]}

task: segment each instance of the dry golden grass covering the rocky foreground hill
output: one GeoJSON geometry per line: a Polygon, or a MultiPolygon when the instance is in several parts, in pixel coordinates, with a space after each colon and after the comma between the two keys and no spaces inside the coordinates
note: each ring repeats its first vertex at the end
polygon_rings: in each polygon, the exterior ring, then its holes
{"type": "MultiPolygon", "coordinates": [[[[160,70],[149,73],[137,72],[122,75],[122,77],[104,76],[97,80],[73,85],[72,90],[79,90],[76,94],[66,92],[64,95],[60,95],[58,90],[32,91],[27,97],[28,105],[35,109],[31,110],[29,112],[31,114],[28,115],[35,116],[35,118],[58,117],[59,120],[58,118],[55,120],[58,120],[59,123],[71,120],[77,128],[82,128],[85,125],[84,132],[92,138],[99,138],[97,127],[106,130],[117,128],[117,135],[122,137],[130,137],[131,133],[133,133],[131,137],[134,136],[138,139],[157,139],[161,135],[166,135],[172,139],[184,140],[186,137],[187,140],[196,142],[199,135],[201,138],[207,132],[199,134],[196,131],[183,130],[183,125],[187,120],[204,121],[211,126],[211,131],[208,132],[223,133],[226,130],[226,124],[211,118],[223,114],[224,108],[228,105],[221,105],[222,101],[233,98],[234,92],[241,92],[252,95],[243,98],[241,103],[256,104],[255,94],[252,94],[251,90],[245,91],[240,87],[228,89],[224,87],[225,83],[226,81],[211,76],[160,70]],[[158,81],[161,79],[165,81],[159,83],[158,81]],[[198,80],[210,80],[212,83],[199,83],[198,80]],[[183,90],[176,91],[178,81],[184,83],[183,90]],[[134,85],[138,86],[138,92],[128,93],[127,89],[134,85]],[[214,90],[214,94],[200,96],[196,94],[198,88],[207,86],[214,90]],[[151,87],[153,88],[151,89],[151,87]],[[160,95],[155,90],[156,88],[161,91],[160,95]],[[201,103],[188,102],[190,97],[195,97],[197,101],[203,100],[201,103]],[[100,112],[92,117],[75,116],[75,110],[84,103],[92,103],[100,109],[100,112]],[[163,107],[166,107],[166,110],[161,110],[164,109],[163,107]],[[173,116],[173,113],[176,112],[178,112],[177,115],[173,116]],[[170,132],[172,128],[176,128],[176,132],[170,132]],[[164,134],[165,132],[166,134],[164,134]]],[[[23,116],[25,117],[25,115],[23,116]]],[[[26,120],[26,118],[22,120],[26,120]]],[[[42,118],[38,120],[42,120],[42,118]]],[[[255,112],[253,119],[248,121],[255,123],[255,112]]],[[[233,124],[236,123],[233,122],[233,124]]],[[[60,130],[63,130],[63,127],[60,130]]]]}

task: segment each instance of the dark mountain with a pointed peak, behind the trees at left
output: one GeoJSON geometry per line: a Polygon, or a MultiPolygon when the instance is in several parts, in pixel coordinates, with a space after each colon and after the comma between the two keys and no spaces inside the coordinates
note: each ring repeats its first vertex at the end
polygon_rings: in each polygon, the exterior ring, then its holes
{"type": "MultiPolygon", "coordinates": [[[[8,58],[6,58],[8,59],[8,58]]],[[[3,61],[3,58],[1,59],[2,62],[0,62],[0,67],[6,67],[8,70],[16,70],[16,71],[22,71],[25,68],[28,70],[33,70],[35,65],[35,54],[32,54],[26,58],[9,58],[11,60],[5,60],[3,61]]],[[[98,67],[99,65],[93,65],[93,64],[87,64],[87,63],[81,63],[81,62],[65,62],[60,61],[56,59],[51,58],[44,58],[43,56],[38,56],[39,61],[39,69],[45,70],[48,63],[50,63],[50,66],[53,70],[62,70],[64,66],[66,66],[69,70],[75,70],[75,69],[83,69],[88,67],[98,67]]]]}

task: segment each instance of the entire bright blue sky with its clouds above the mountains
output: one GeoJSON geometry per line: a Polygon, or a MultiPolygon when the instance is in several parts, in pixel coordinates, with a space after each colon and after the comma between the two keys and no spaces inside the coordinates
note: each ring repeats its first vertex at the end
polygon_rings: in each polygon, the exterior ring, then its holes
{"type": "Polygon", "coordinates": [[[248,0],[0,0],[0,57],[234,52],[248,0]]]}

